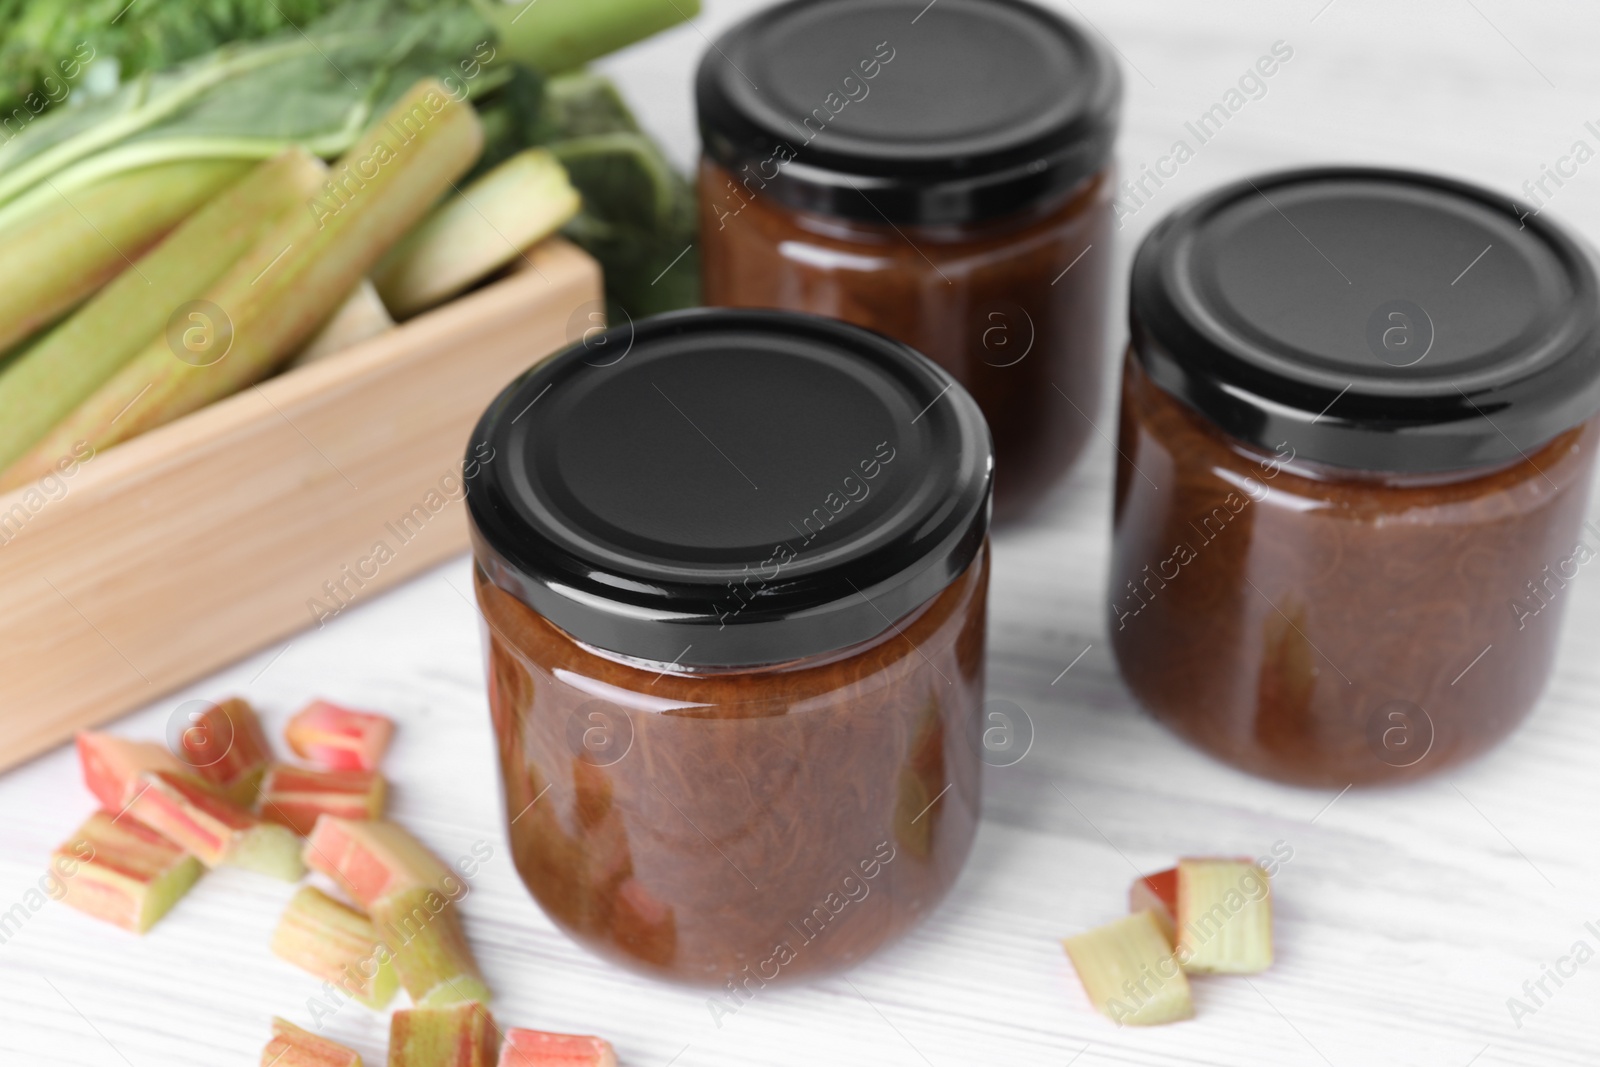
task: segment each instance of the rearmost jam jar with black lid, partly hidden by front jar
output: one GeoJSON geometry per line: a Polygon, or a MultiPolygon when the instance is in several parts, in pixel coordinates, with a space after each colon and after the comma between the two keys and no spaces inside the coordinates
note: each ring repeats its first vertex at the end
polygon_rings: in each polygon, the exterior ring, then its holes
{"type": "Polygon", "coordinates": [[[1024,0],[800,0],[696,82],[707,304],[898,338],[989,419],[995,515],[1094,432],[1122,82],[1024,0]]]}

